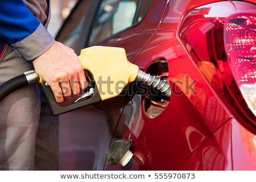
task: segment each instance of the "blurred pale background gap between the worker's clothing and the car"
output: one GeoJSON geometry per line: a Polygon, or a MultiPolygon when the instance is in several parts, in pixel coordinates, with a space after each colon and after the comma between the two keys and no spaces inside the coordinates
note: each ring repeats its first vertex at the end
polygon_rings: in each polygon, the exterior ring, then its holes
{"type": "Polygon", "coordinates": [[[51,0],[51,21],[48,26],[48,31],[52,36],[56,36],[61,23],[67,18],[77,0],[51,0]]]}

